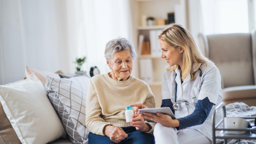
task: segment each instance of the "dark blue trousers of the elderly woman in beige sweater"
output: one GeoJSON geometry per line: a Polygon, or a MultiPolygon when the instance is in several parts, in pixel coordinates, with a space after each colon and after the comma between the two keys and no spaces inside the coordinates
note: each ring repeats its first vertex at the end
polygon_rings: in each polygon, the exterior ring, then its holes
{"type": "MultiPolygon", "coordinates": [[[[120,141],[120,144],[154,144],[155,139],[154,136],[139,132],[133,126],[122,127],[123,131],[128,135],[127,138],[120,141]]],[[[88,135],[89,144],[115,144],[115,142],[111,141],[109,137],[96,135],[93,133],[89,133],[88,135]]]]}

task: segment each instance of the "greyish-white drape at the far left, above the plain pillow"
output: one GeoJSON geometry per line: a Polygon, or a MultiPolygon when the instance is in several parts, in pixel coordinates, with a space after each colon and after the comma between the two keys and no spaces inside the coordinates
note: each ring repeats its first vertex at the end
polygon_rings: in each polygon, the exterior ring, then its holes
{"type": "Polygon", "coordinates": [[[24,77],[26,37],[20,1],[0,1],[0,63],[0,84],[24,77]]]}

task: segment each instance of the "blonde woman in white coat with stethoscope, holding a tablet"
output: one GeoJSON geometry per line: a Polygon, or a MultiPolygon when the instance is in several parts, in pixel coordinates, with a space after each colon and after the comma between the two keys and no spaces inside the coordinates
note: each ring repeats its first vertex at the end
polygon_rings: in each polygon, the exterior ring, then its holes
{"type": "MultiPolygon", "coordinates": [[[[156,143],[211,143],[212,111],[221,103],[218,68],[204,57],[189,31],[171,24],[158,36],[166,59],[162,82],[162,106],[170,107],[176,119],[161,113],[140,115],[157,122],[156,143]]],[[[139,108],[146,108],[136,104],[139,108]]],[[[218,122],[221,114],[216,115],[218,122]]]]}

